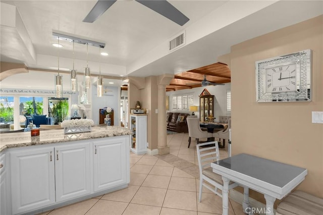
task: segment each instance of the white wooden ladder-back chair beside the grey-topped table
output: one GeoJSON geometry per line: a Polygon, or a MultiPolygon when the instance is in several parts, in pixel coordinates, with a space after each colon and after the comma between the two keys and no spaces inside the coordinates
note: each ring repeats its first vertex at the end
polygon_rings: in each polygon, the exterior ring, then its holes
{"type": "MultiPolygon", "coordinates": [[[[213,193],[215,193],[216,195],[222,198],[222,194],[218,192],[218,189],[221,191],[223,190],[222,177],[216,173],[213,173],[213,169],[211,168],[211,163],[217,162],[220,158],[218,141],[200,143],[196,145],[196,151],[197,151],[197,159],[198,159],[198,168],[200,171],[198,201],[201,202],[202,186],[204,186],[205,188],[209,189],[210,191],[212,191],[213,193]],[[214,146],[201,147],[201,146],[210,145],[210,144],[214,144],[214,146]],[[214,188],[208,185],[207,183],[205,183],[204,181],[213,185],[214,188]]],[[[229,190],[238,185],[239,184],[230,181],[229,190]]]]}

